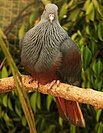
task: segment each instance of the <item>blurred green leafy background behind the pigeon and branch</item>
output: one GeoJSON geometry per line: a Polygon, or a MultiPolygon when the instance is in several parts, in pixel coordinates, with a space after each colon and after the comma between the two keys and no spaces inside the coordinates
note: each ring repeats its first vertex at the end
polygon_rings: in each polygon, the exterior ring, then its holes
{"type": "MultiPolygon", "coordinates": [[[[0,28],[8,40],[9,50],[22,74],[19,40],[37,24],[44,5],[59,7],[59,21],[80,47],[83,65],[81,86],[103,90],[103,0],[0,0],[0,28]]],[[[0,34],[1,34],[0,30],[0,34]]],[[[0,78],[11,76],[11,69],[0,48],[0,78]]],[[[29,94],[38,133],[103,133],[103,111],[82,105],[86,128],[63,121],[50,95],[29,94]]],[[[29,133],[15,92],[0,94],[0,133],[29,133]]]]}

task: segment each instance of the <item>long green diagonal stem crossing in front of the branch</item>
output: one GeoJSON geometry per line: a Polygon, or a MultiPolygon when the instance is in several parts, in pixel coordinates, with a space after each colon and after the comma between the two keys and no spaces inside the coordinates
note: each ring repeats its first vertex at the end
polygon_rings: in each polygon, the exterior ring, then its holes
{"type": "MultiPolygon", "coordinates": [[[[25,87],[22,83],[22,80],[21,80],[21,74],[18,71],[18,68],[15,65],[15,62],[13,61],[13,58],[12,58],[10,52],[9,52],[9,49],[8,49],[9,47],[7,47],[8,45],[3,41],[4,38],[5,38],[5,36],[0,35],[1,49],[5,54],[8,65],[11,69],[12,74],[13,74],[13,78],[14,78],[14,82],[15,82],[15,86],[16,86],[16,91],[17,91],[20,103],[22,105],[22,109],[24,111],[26,120],[28,122],[30,132],[35,132],[36,133],[33,112],[32,112],[32,109],[31,109],[31,106],[30,106],[30,103],[29,103],[29,99],[28,99],[28,96],[27,96],[26,89],[25,89],[25,87]]],[[[6,40],[6,38],[5,38],[5,40],[6,40]]],[[[6,40],[6,42],[7,42],[7,40],[6,40]]],[[[6,70],[6,69],[4,69],[4,70],[6,70]]]]}

